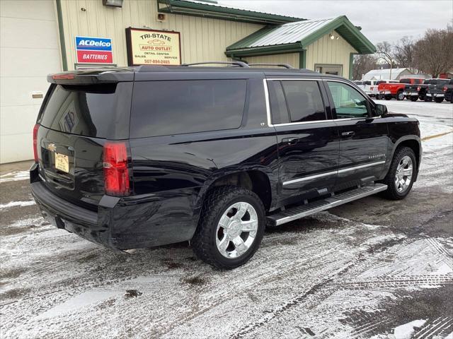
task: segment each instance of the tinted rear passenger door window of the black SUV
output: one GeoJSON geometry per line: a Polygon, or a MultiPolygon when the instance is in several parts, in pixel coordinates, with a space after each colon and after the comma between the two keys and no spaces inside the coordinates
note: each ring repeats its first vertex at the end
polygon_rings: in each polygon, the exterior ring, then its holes
{"type": "Polygon", "coordinates": [[[316,81],[282,81],[291,122],[325,120],[321,91],[316,81]]]}

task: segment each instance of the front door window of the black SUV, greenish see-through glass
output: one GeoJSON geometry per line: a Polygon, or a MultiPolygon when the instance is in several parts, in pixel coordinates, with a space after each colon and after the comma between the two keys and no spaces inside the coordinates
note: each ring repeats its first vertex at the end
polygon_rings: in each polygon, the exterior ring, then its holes
{"type": "Polygon", "coordinates": [[[345,83],[328,81],[337,119],[369,117],[368,100],[345,83]]]}

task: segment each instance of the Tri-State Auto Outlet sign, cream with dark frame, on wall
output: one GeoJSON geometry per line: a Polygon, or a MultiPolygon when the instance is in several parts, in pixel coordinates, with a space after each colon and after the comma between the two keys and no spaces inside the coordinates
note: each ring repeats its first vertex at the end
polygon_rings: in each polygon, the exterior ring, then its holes
{"type": "Polygon", "coordinates": [[[126,28],[127,62],[138,65],[180,65],[180,33],[126,28]]]}

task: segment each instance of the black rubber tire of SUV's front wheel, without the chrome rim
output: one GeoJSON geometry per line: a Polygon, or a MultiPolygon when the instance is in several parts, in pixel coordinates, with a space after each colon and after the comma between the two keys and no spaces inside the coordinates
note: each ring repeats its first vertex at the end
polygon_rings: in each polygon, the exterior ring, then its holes
{"type": "Polygon", "coordinates": [[[415,162],[415,154],[413,153],[413,150],[408,147],[401,147],[397,148],[395,150],[395,154],[393,159],[391,160],[391,165],[389,168],[389,172],[387,172],[386,177],[384,180],[382,180],[383,184],[386,184],[388,187],[386,191],[384,191],[384,196],[390,200],[401,200],[403,198],[406,198],[406,196],[409,194],[409,192],[412,189],[413,185],[413,180],[415,179],[415,176],[418,171],[418,163],[415,162]],[[413,164],[413,172],[412,172],[412,178],[411,178],[411,183],[408,185],[407,189],[403,192],[399,192],[396,189],[395,185],[395,177],[396,177],[396,170],[398,169],[398,164],[401,162],[403,157],[410,157],[412,160],[413,164]]]}

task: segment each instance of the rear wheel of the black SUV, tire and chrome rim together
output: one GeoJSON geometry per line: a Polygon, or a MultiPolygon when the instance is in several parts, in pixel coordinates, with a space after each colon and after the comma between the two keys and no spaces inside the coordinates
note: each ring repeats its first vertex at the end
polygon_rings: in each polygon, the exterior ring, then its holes
{"type": "Polygon", "coordinates": [[[263,239],[265,209],[256,194],[236,186],[208,192],[192,239],[202,261],[229,270],[246,263],[263,239]]]}

